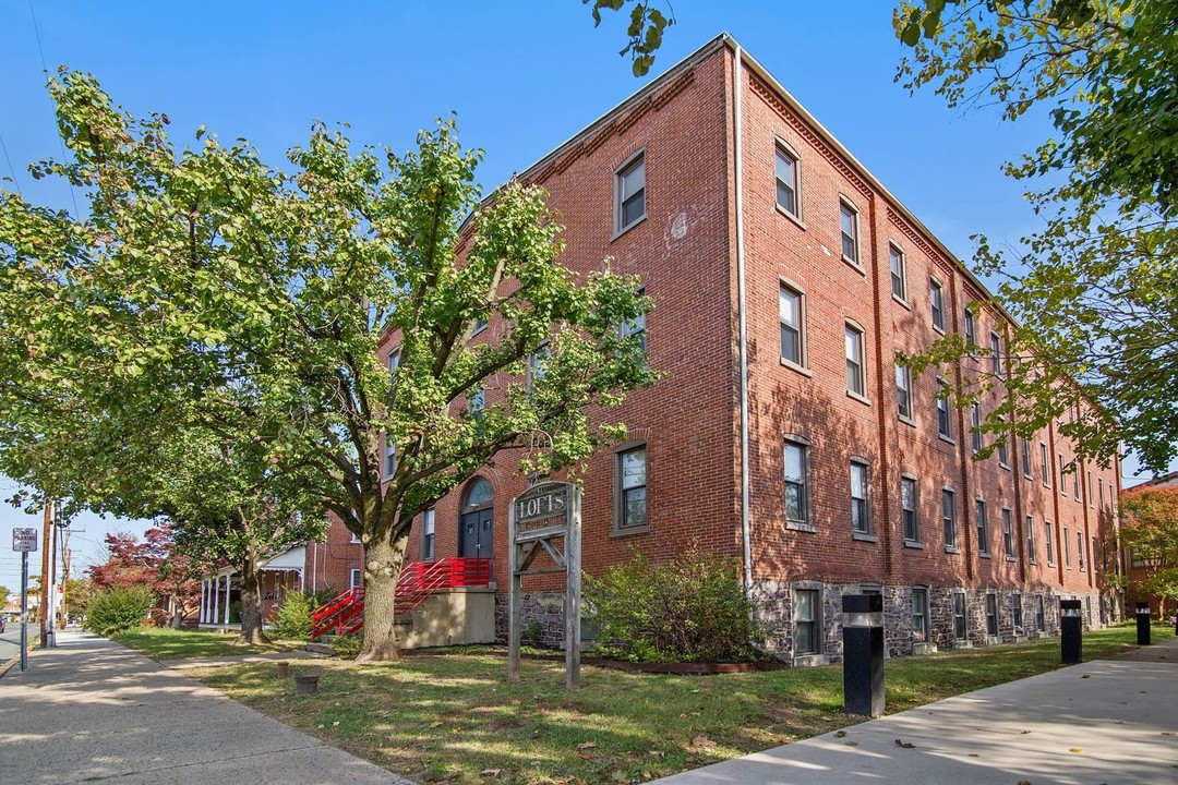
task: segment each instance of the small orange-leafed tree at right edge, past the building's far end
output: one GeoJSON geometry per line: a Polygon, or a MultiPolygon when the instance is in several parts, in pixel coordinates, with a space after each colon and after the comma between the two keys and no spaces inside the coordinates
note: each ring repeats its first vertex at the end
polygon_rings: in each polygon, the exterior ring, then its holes
{"type": "Polygon", "coordinates": [[[1121,545],[1145,571],[1138,594],[1158,597],[1158,616],[1164,619],[1166,600],[1178,603],[1178,488],[1126,493],[1121,510],[1121,545]]]}

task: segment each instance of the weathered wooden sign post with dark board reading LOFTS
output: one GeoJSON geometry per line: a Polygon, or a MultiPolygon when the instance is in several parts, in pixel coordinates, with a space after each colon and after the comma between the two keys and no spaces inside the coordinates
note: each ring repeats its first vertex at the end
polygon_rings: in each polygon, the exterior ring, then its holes
{"type": "Polygon", "coordinates": [[[523,577],[565,573],[564,686],[581,679],[581,488],[571,483],[541,483],[511,500],[508,513],[508,678],[519,680],[519,627],[523,619],[523,577]],[[564,551],[557,547],[563,540],[564,551]],[[555,566],[532,563],[547,553],[555,566]]]}

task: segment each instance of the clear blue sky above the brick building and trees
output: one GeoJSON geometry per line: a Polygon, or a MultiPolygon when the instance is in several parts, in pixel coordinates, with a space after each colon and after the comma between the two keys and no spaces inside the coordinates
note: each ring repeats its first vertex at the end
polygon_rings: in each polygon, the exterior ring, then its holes
{"type": "MultiPolygon", "coordinates": [[[[909,97],[893,80],[904,49],[887,0],[673,7],[677,22],[651,76],[728,32],[958,257],[972,255],[971,234],[1013,245],[1039,226],[1024,187],[999,167],[1048,135],[1043,113],[1010,125],[991,107],[909,97]]],[[[581,0],[13,0],[0,4],[0,177],[32,201],[73,208],[68,188],[25,169],[60,155],[44,55],[51,71],[94,73],[135,114],[165,112],[178,145],[206,125],[250,139],[276,164],[315,120],[348,122],[355,142],[401,152],[456,112],[464,144],[487,153],[478,179],[490,189],[648,81],[617,55],[624,29],[610,13],[594,29],[581,0]]],[[[6,541],[26,525],[37,520],[0,507],[0,585],[18,583],[6,541]]],[[[85,563],[107,530],[143,526],[87,519],[77,528],[85,563]]]]}

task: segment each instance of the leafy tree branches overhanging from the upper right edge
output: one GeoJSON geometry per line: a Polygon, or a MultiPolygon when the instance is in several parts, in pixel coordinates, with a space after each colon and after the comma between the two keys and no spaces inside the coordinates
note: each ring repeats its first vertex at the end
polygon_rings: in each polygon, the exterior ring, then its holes
{"type": "MultiPolygon", "coordinates": [[[[1008,120],[1046,104],[1057,137],[1006,165],[1045,184],[1027,194],[1044,228],[1008,253],[980,238],[979,266],[1005,273],[997,304],[1018,321],[1010,391],[984,430],[1060,431],[1083,459],[1121,443],[1164,471],[1178,445],[1178,0],[905,1],[912,54],[898,80],[933,85],[951,107],[992,101],[1008,120]]],[[[951,364],[949,337],[914,370],[951,364]]]]}

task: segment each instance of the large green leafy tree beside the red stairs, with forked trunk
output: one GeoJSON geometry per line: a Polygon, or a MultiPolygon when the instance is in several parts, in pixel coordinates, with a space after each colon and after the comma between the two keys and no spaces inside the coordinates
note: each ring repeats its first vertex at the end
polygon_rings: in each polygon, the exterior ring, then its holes
{"type": "MultiPolygon", "coordinates": [[[[204,128],[178,153],[166,115],[135,119],[92,76],[64,72],[49,89],[72,158],[32,168],[73,182],[90,214],[4,195],[5,466],[68,445],[75,423],[87,451],[118,455],[141,435],[110,423],[158,423],[157,410],[218,447],[253,445],[254,465],[364,543],[362,660],[397,657],[393,588],[418,513],[503,450],[528,447],[528,471],[575,465],[624,434],[608,407],[656,379],[620,330],[649,307],[640,281],[561,266],[541,188],[482,200],[481,153],[452,121],[404,155],[353,153],[316,126],[286,173],[204,128]]],[[[107,474],[87,485],[77,452],[58,457],[15,477],[119,495],[107,474]]]]}

